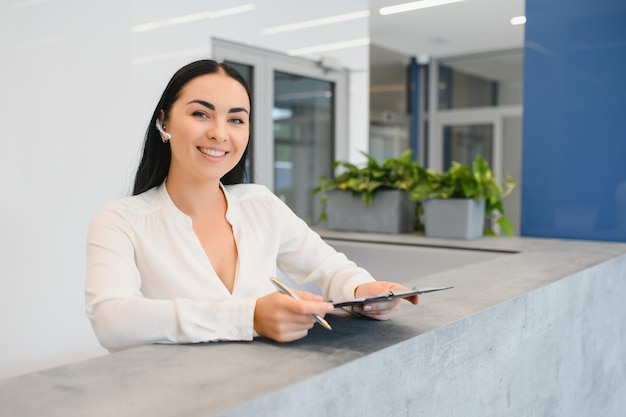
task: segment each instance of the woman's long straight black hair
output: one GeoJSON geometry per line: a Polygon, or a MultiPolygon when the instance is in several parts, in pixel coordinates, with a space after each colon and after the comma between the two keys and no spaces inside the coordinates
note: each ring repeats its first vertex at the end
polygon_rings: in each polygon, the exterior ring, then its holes
{"type": "MultiPolygon", "coordinates": [[[[244,78],[239,74],[237,70],[226,63],[218,63],[211,59],[203,59],[195,61],[185,65],[172,76],[172,79],[165,87],[163,95],[159,100],[159,103],[154,109],[152,118],[148,123],[148,129],[146,130],[146,137],[143,145],[143,155],[141,156],[141,162],[137,168],[137,174],[135,175],[135,186],[133,188],[133,195],[141,194],[157,185],[160,185],[165,181],[167,173],[170,167],[170,161],[172,158],[170,143],[163,143],[161,135],[156,129],[155,122],[159,118],[161,110],[165,114],[164,119],[167,120],[169,112],[174,102],[180,96],[180,92],[183,87],[192,79],[205,74],[215,74],[223,70],[228,76],[238,81],[248,93],[248,99],[250,99],[250,89],[244,78]]],[[[252,100],[250,100],[252,105],[252,100]]],[[[235,165],[235,167],[227,172],[222,178],[222,184],[239,184],[243,181],[245,175],[246,156],[248,155],[248,146],[243,152],[243,156],[235,165]]]]}

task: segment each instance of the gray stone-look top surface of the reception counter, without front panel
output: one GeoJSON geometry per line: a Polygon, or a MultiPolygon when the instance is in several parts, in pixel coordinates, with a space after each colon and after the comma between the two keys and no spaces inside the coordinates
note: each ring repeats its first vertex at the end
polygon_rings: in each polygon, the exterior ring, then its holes
{"type": "MultiPolygon", "coordinates": [[[[422,296],[418,306],[405,303],[387,322],[337,310],[327,316],[332,332],[316,325],[306,338],[293,343],[258,338],[239,343],[142,346],[3,380],[0,416],[231,416],[252,415],[250,410],[260,406],[255,404],[264,407],[256,415],[276,416],[294,415],[290,413],[299,401],[309,404],[306,415],[328,415],[332,405],[326,404],[323,412],[311,410],[310,404],[317,402],[307,396],[332,398],[334,388],[329,381],[338,375],[356,372],[354,378],[369,379],[372,375],[367,370],[376,364],[386,361],[390,368],[396,366],[389,352],[403,343],[420,342],[437,329],[471,320],[596,265],[614,262],[611,273],[626,276],[626,244],[621,243],[518,237],[456,241],[325,230],[320,234],[337,241],[366,241],[383,249],[386,243],[394,243],[494,251],[502,256],[405,282],[421,287],[452,285],[454,289],[422,296]]],[[[354,406],[357,400],[346,395],[341,401],[354,406]]]]}

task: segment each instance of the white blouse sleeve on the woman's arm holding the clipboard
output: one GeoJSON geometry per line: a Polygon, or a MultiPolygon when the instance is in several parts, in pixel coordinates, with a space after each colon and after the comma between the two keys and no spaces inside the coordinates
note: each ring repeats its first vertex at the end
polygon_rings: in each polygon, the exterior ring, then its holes
{"type": "Polygon", "coordinates": [[[325,299],[350,299],[363,283],[375,281],[365,269],[324,242],[320,235],[275,197],[280,222],[278,268],[297,284],[315,283],[325,299]]]}

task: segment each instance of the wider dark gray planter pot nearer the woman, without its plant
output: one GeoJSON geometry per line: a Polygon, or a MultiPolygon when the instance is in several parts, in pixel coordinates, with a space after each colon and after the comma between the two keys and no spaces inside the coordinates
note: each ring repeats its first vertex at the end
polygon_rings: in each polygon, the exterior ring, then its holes
{"type": "Polygon", "coordinates": [[[369,233],[409,233],[415,225],[415,205],[403,190],[381,190],[374,201],[363,206],[360,196],[350,191],[326,193],[327,226],[332,230],[369,233]]]}

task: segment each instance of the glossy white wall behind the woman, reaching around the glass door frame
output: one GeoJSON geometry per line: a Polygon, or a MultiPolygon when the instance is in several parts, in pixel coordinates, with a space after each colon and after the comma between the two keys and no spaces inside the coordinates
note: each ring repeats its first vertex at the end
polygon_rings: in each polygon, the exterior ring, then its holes
{"type": "MultiPolygon", "coordinates": [[[[131,33],[224,2],[0,0],[0,378],[106,353],[83,309],[86,230],[106,200],[129,194],[146,123],[178,67],[210,56],[212,36],[275,50],[368,36],[368,19],[259,35],[363,10],[367,0],[256,5],[131,33]]],[[[367,46],[324,54],[354,71],[350,152],[358,155],[367,146],[367,46]]]]}

